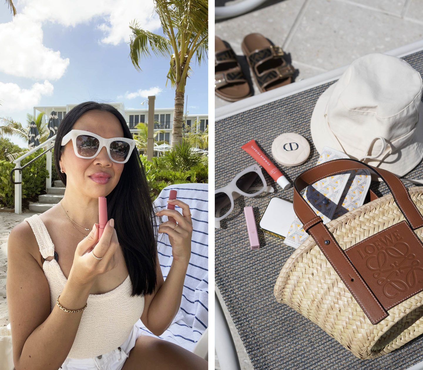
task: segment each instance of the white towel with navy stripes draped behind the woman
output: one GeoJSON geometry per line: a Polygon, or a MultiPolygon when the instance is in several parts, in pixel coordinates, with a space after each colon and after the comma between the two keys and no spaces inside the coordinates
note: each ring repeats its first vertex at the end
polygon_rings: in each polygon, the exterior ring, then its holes
{"type": "MultiPolygon", "coordinates": [[[[176,343],[189,351],[195,347],[208,326],[208,184],[177,184],[167,186],[154,201],[157,211],[167,207],[169,192],[175,189],[177,198],[190,206],[192,218],[191,258],[182,292],[181,307],[173,323],[159,338],[176,343]]],[[[182,212],[176,206],[176,211],[182,212]]],[[[167,216],[162,217],[167,221],[167,216]]],[[[157,225],[158,227],[158,225],[157,225]]],[[[167,234],[159,234],[157,243],[160,267],[166,279],[172,264],[172,247],[167,234]]],[[[138,321],[148,335],[154,336],[138,321]]]]}

